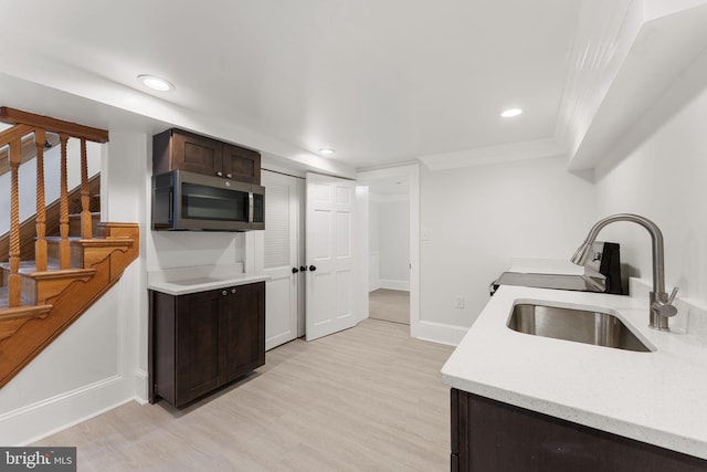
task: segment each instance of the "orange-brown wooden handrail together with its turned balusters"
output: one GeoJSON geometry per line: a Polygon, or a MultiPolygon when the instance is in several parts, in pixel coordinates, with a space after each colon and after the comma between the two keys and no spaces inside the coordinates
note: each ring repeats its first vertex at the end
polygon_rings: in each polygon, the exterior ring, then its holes
{"type": "Polygon", "coordinates": [[[20,284],[20,219],[19,219],[19,168],[23,161],[22,139],[28,135],[34,135],[36,147],[36,243],[35,264],[38,271],[45,271],[46,261],[46,216],[44,202],[44,145],[46,133],[57,133],[61,143],[61,176],[60,176],[60,269],[71,269],[71,245],[68,242],[68,190],[67,190],[67,167],[66,148],[70,138],[81,139],[81,180],[82,180],[82,237],[91,238],[91,213],[88,209],[88,172],[86,164],[86,140],[106,143],[108,132],[78,125],[62,119],[51,118],[43,115],[35,115],[9,107],[0,107],[0,122],[10,123],[14,126],[0,133],[0,147],[9,145],[7,160],[10,164],[11,186],[10,186],[10,275],[8,276],[8,292],[10,307],[20,306],[22,303],[20,284]]]}

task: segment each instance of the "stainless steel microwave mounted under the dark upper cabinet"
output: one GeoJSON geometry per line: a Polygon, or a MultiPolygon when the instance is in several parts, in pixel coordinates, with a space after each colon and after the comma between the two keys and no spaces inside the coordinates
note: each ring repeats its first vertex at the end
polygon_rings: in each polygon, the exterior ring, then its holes
{"type": "Polygon", "coordinates": [[[152,229],[264,230],[265,188],[184,170],[152,176],[152,229]]]}

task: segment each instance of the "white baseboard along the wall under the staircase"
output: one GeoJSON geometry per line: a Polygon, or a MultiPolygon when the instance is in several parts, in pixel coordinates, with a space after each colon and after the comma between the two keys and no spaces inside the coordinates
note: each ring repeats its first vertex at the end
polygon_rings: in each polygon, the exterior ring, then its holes
{"type": "Polygon", "coordinates": [[[31,444],[126,403],[134,399],[133,382],[116,375],[0,415],[0,444],[31,444]]]}

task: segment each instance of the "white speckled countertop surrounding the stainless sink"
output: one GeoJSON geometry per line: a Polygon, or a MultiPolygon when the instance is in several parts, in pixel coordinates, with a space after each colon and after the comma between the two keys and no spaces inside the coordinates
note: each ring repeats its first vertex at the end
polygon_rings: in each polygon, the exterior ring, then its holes
{"type": "MultiPolygon", "coordinates": [[[[677,321],[675,326],[680,329],[685,323],[677,321]]],[[[502,286],[442,368],[443,381],[707,459],[707,342],[647,324],[647,295],[643,300],[502,286]],[[608,311],[655,350],[636,353],[517,333],[506,323],[519,301],[608,311]]]]}

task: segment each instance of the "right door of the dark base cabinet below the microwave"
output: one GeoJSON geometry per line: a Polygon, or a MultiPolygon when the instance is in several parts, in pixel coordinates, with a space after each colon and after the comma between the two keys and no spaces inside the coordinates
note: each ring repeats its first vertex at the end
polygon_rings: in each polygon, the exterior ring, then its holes
{"type": "Polygon", "coordinates": [[[265,282],[236,287],[225,310],[226,378],[265,364],[265,282]]]}

